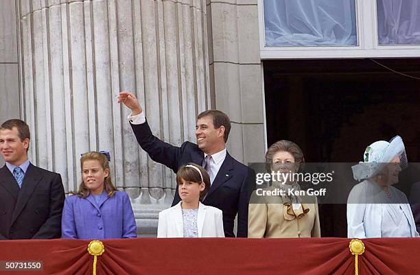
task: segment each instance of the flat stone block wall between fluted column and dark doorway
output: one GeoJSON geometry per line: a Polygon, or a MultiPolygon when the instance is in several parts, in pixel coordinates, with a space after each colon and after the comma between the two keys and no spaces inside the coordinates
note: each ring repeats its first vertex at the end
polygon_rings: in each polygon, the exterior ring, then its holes
{"type": "Polygon", "coordinates": [[[257,0],[207,0],[211,91],[232,121],[227,144],[242,163],[264,161],[257,0]]]}

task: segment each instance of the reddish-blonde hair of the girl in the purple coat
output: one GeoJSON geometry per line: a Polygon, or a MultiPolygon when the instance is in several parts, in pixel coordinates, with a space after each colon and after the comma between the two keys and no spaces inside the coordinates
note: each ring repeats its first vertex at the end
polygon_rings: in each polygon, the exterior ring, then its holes
{"type": "MultiPolygon", "coordinates": [[[[97,160],[99,161],[102,169],[108,169],[108,176],[104,180],[104,187],[106,190],[106,193],[108,197],[112,197],[115,194],[115,191],[117,191],[117,187],[114,186],[113,182],[110,179],[110,168],[108,160],[106,159],[106,156],[104,154],[101,154],[100,152],[87,152],[86,154],[83,154],[80,158],[80,167],[83,169],[83,163],[86,160],[97,160]]],[[[74,193],[74,192],[73,192],[74,193]]],[[[87,198],[89,197],[89,189],[86,187],[86,185],[83,182],[79,185],[79,189],[77,193],[74,193],[75,195],[78,195],[80,198],[87,198]]]]}

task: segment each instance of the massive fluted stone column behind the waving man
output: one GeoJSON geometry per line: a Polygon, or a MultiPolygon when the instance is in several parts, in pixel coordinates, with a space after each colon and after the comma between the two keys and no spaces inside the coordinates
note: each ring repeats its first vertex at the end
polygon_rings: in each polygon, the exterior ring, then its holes
{"type": "Polygon", "coordinates": [[[195,140],[196,115],[212,98],[205,0],[16,0],[16,7],[32,161],[59,172],[71,191],[80,154],[110,151],[113,182],[130,194],[139,235],[156,234],[174,174],[139,149],[115,95],[134,92],[164,141],[195,140]]]}

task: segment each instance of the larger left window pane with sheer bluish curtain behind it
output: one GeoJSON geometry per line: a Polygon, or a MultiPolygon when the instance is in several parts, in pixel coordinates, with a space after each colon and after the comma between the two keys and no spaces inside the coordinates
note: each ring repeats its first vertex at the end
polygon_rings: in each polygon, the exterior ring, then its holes
{"type": "Polygon", "coordinates": [[[266,46],[355,46],[355,0],[264,0],[266,46]]]}

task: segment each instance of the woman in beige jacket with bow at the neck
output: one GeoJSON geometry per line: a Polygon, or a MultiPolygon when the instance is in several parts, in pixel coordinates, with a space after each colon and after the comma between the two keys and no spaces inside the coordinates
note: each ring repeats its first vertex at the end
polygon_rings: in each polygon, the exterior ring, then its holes
{"type": "MultiPolygon", "coordinates": [[[[292,141],[277,141],[268,148],[266,164],[270,171],[282,174],[298,172],[305,163],[301,148],[292,141]]],[[[272,181],[264,191],[283,189],[300,190],[299,184],[290,180],[272,181]]],[[[318,204],[316,197],[261,195],[254,191],[248,208],[248,237],[285,238],[320,237],[318,204]]],[[[278,193],[278,192],[277,192],[278,193]]],[[[265,193],[266,194],[266,193],[265,193]]]]}

